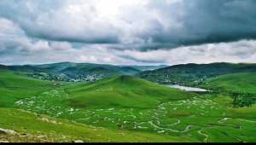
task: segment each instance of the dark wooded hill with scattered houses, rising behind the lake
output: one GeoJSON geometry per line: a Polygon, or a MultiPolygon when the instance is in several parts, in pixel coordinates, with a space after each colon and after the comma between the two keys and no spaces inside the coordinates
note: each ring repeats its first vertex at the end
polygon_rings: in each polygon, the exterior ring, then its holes
{"type": "Polygon", "coordinates": [[[180,64],[137,73],[135,76],[159,84],[198,85],[202,80],[229,73],[253,73],[256,64],[218,62],[210,64],[180,64]]]}

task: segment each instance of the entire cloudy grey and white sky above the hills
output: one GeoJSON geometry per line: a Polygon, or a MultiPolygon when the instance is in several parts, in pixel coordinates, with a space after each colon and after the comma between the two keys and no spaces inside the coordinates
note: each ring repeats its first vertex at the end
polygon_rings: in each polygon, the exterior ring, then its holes
{"type": "Polygon", "coordinates": [[[0,0],[0,64],[256,63],[255,0],[0,0]]]}

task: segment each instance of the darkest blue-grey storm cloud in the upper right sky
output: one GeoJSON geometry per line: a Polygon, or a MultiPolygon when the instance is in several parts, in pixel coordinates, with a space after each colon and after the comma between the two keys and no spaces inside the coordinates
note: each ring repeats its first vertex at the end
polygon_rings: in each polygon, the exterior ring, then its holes
{"type": "Polygon", "coordinates": [[[149,22],[152,26],[136,36],[145,41],[152,38],[153,43],[171,44],[170,48],[255,39],[255,8],[254,0],[183,0],[171,4],[152,0],[148,9],[158,11],[166,19],[172,17],[181,26],[163,28],[160,23],[149,22]]]}

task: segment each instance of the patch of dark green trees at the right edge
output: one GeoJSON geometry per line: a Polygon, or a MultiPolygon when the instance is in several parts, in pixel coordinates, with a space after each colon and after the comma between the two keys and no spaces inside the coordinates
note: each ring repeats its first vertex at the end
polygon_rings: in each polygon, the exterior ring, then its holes
{"type": "Polygon", "coordinates": [[[230,92],[230,97],[234,99],[233,107],[252,107],[256,102],[256,93],[230,92]]]}

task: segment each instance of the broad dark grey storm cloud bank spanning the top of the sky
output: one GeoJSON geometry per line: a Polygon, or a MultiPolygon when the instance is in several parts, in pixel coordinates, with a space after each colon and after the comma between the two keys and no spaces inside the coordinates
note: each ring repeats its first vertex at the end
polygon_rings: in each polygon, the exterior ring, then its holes
{"type": "Polygon", "coordinates": [[[79,15],[67,9],[70,4],[84,2],[70,2],[2,0],[0,18],[13,21],[30,38],[113,44],[107,47],[119,50],[150,51],[256,39],[255,0],[151,0],[145,6],[119,7],[119,16],[113,14],[106,20],[95,9],[96,3],[83,5],[79,15]],[[124,38],[130,39],[129,43],[124,38]]]}

